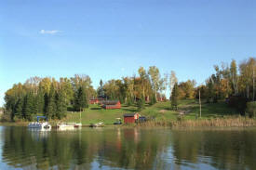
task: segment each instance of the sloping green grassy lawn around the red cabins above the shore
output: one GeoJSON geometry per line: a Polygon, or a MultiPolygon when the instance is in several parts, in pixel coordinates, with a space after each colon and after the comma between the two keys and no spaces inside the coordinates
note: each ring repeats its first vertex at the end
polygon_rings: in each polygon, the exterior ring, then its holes
{"type": "MultiPolygon", "coordinates": [[[[113,124],[115,118],[122,118],[123,114],[128,112],[139,112],[146,117],[154,117],[155,120],[176,120],[178,115],[185,112],[184,119],[194,120],[195,115],[199,114],[199,105],[195,103],[195,99],[183,99],[179,102],[179,111],[170,110],[170,102],[158,102],[153,106],[146,105],[145,109],[138,111],[136,106],[122,105],[120,110],[104,110],[98,105],[90,105],[88,109],[82,111],[82,124],[91,124],[104,122],[105,124],[113,124]]],[[[223,101],[218,103],[202,104],[202,119],[222,117],[223,115],[232,115],[237,113],[235,110],[229,108],[223,101]]],[[[63,122],[79,122],[79,112],[69,112],[63,122]]]]}

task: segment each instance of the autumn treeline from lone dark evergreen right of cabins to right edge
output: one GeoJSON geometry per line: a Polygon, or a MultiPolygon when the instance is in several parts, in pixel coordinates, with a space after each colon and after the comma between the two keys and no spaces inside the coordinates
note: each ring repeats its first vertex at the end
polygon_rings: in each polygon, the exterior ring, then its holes
{"type": "Polygon", "coordinates": [[[255,78],[256,59],[244,59],[239,64],[235,59],[230,63],[214,65],[215,73],[206,80],[205,85],[197,85],[188,80],[174,85],[171,90],[171,107],[177,110],[178,99],[204,98],[208,103],[225,99],[230,107],[240,114],[256,116],[255,78]]]}

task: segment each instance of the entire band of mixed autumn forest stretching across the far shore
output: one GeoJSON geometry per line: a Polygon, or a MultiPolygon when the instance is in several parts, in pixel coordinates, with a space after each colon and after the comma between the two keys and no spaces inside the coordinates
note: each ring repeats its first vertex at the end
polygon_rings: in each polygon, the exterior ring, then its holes
{"type": "Polygon", "coordinates": [[[179,82],[174,71],[161,75],[155,66],[148,70],[141,67],[137,75],[130,77],[101,81],[98,89],[93,88],[90,77],[85,74],[61,77],[59,81],[51,77],[32,77],[7,90],[5,113],[11,120],[32,120],[37,113],[49,119],[61,119],[67,110],[88,108],[90,98],[120,100],[123,104],[136,104],[140,109],[146,103],[155,104],[169,98],[170,107],[176,110],[179,99],[199,98],[199,94],[209,103],[226,99],[241,114],[245,113],[246,106],[247,111],[254,113],[256,59],[245,59],[239,64],[233,59],[231,63],[215,65],[214,69],[215,73],[205,85],[196,85],[195,80],[179,82]],[[167,90],[171,92],[168,97],[167,90]]]}

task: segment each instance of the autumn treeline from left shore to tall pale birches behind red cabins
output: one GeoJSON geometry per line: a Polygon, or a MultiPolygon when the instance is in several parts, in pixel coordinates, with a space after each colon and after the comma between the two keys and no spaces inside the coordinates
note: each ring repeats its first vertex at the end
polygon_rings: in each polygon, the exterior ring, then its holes
{"type": "Polygon", "coordinates": [[[49,119],[61,119],[67,108],[80,111],[88,107],[90,98],[120,100],[121,103],[137,105],[143,109],[145,103],[155,104],[166,99],[165,92],[178,82],[175,72],[161,76],[155,66],[145,70],[139,68],[138,75],[110,80],[94,90],[88,75],[71,78],[32,77],[24,84],[13,85],[6,92],[6,111],[11,120],[31,120],[34,114],[44,113],[49,119]],[[168,78],[170,80],[168,80],[168,78]],[[169,82],[169,84],[168,84],[169,82]]]}

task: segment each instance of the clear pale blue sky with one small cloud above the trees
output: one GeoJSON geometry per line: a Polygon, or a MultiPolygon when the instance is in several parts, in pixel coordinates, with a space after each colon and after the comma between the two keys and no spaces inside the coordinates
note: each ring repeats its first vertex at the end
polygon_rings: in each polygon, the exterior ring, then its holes
{"type": "Polygon", "coordinates": [[[0,105],[31,76],[121,78],[140,66],[203,83],[256,56],[255,0],[2,0],[0,105]]]}

